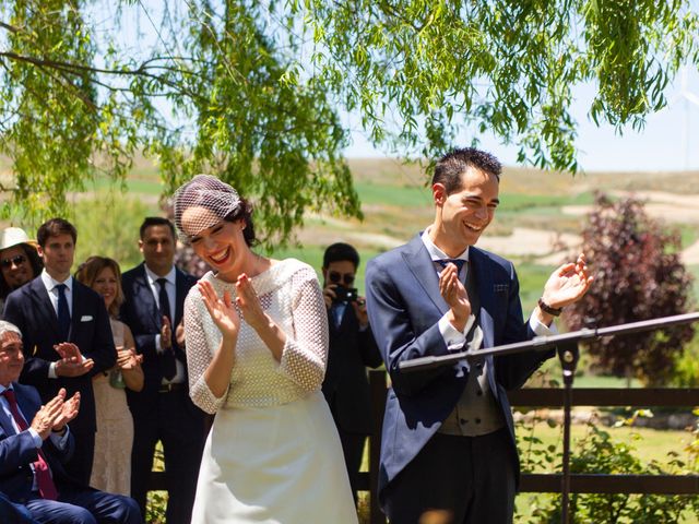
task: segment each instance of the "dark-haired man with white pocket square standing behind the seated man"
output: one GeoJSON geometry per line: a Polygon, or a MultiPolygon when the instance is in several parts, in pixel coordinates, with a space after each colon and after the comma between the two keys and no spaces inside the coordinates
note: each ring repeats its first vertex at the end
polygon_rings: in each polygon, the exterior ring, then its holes
{"type": "Polygon", "coordinates": [[[4,319],[24,333],[22,383],[35,386],[43,402],[61,388],[69,395],[80,392],[82,408],[71,425],[78,451],[66,468],[87,485],[97,428],[92,377],[111,368],[117,352],[104,299],[70,274],[75,227],[51,218],[36,236],[44,271],[8,296],[4,319]]]}

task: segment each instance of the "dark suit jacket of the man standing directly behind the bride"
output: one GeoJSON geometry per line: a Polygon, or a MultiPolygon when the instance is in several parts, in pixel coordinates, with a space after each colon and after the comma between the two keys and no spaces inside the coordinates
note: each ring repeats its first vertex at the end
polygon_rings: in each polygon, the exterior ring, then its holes
{"type": "MultiPolygon", "coordinates": [[[[185,298],[189,289],[197,283],[192,275],[176,269],[175,276],[175,318],[173,329],[182,320],[185,314],[185,298]]],[[[153,290],[149,284],[145,273],[145,264],[127,271],[121,276],[121,287],[123,288],[125,301],[121,306],[121,320],[131,329],[135,338],[138,353],[143,355],[143,373],[145,381],[143,391],[135,393],[127,390],[129,396],[129,407],[135,414],[144,408],[142,401],[145,397],[154,397],[163,381],[157,349],[155,347],[155,336],[161,333],[162,318],[155,303],[153,290]],[[138,401],[141,400],[141,401],[138,401]]],[[[187,370],[187,358],[181,348],[175,348],[178,360],[185,365],[187,370]]],[[[187,381],[185,381],[187,384],[187,381]]]]}

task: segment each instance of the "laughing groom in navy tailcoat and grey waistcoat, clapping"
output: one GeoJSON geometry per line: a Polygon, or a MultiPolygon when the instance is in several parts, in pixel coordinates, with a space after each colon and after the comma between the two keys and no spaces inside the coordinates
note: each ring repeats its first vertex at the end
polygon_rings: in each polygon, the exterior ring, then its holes
{"type": "Polygon", "coordinates": [[[498,206],[500,163],[475,148],[442,157],[433,177],[435,219],[367,265],[369,319],[388,392],[379,498],[392,524],[512,522],[519,480],[507,391],[553,352],[487,357],[417,372],[399,364],[552,333],[561,308],[592,277],[584,255],[552,274],[528,322],[511,262],[474,247],[498,206]]]}

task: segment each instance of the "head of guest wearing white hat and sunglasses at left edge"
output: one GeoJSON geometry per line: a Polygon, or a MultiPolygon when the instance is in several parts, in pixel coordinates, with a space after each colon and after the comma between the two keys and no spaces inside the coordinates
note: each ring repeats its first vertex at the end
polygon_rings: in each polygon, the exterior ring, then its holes
{"type": "Polygon", "coordinates": [[[19,227],[5,227],[0,238],[0,311],[4,299],[42,272],[36,242],[19,227]]]}

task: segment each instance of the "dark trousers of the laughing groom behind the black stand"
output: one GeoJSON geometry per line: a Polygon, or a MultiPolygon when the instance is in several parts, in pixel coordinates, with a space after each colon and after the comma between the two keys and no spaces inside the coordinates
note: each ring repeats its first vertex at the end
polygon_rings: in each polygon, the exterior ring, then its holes
{"type": "Polygon", "coordinates": [[[436,433],[386,488],[391,524],[510,524],[513,453],[507,428],[482,437],[436,433]]]}

